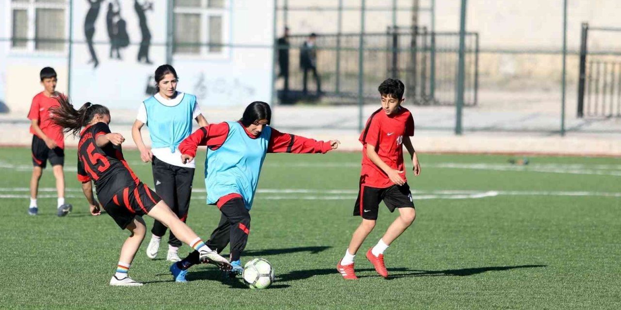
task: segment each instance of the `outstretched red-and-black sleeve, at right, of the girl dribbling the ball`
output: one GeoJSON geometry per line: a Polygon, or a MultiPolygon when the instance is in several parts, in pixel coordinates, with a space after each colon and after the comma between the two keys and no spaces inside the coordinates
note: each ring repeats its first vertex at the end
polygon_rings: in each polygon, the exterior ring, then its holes
{"type": "Polygon", "coordinates": [[[317,141],[315,139],[304,138],[303,136],[281,133],[274,128],[271,129],[268,153],[326,153],[332,149],[330,142],[317,141]]]}

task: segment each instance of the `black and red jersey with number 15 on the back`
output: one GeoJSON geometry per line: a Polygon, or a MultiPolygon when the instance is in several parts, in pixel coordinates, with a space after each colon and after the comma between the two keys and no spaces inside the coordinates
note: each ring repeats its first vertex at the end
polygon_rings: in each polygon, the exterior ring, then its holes
{"type": "Polygon", "coordinates": [[[78,143],[78,180],[83,183],[93,180],[102,205],[109,203],[120,190],[140,182],[123,158],[120,145],[97,146],[97,137],[107,133],[110,128],[106,123],[87,126],[78,143]]]}

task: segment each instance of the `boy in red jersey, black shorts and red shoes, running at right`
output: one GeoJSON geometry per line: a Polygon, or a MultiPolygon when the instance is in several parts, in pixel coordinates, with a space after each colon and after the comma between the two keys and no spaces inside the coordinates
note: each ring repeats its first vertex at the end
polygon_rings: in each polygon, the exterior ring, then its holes
{"type": "Polygon", "coordinates": [[[359,140],[363,145],[360,192],[353,215],[361,216],[362,223],[353,233],[345,256],[337,264],[338,272],[347,280],[358,279],[353,259],[366,236],[375,227],[380,201],[384,201],[391,212],[399,209],[399,217],[392,222],[378,244],[366,252],[366,258],[384,278],[388,277],[384,250],[416,218],[412,193],[406,180],[403,146],[410,153],[414,175],[420,174],[420,165],[410,141],[410,136],[414,135],[414,118],[407,108],[401,107],[404,89],[403,82],[398,79],[382,82],[378,87],[382,107],[371,114],[360,135],[359,140]]]}

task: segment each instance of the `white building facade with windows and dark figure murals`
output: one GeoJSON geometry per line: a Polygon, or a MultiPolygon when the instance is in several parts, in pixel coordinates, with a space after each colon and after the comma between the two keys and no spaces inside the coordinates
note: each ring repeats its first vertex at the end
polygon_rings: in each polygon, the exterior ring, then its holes
{"type": "Polygon", "coordinates": [[[5,1],[0,102],[11,112],[27,112],[45,66],[76,105],[138,107],[165,63],[179,75],[178,90],[202,106],[271,100],[273,1],[5,1]]]}

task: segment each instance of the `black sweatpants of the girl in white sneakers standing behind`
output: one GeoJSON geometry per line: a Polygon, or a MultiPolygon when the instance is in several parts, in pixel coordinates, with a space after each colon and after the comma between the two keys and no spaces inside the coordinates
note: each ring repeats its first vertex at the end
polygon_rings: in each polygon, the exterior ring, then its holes
{"type": "MultiPolygon", "coordinates": [[[[166,205],[173,210],[181,221],[185,223],[188,218],[190,197],[192,195],[192,181],[194,180],[194,168],[179,167],[160,161],[153,156],[152,161],[153,182],[155,192],[160,195],[166,205]]],[[[155,220],[151,232],[158,237],[166,234],[166,226],[155,220]]],[[[181,241],[170,232],[168,244],[181,247],[181,241]]]]}

